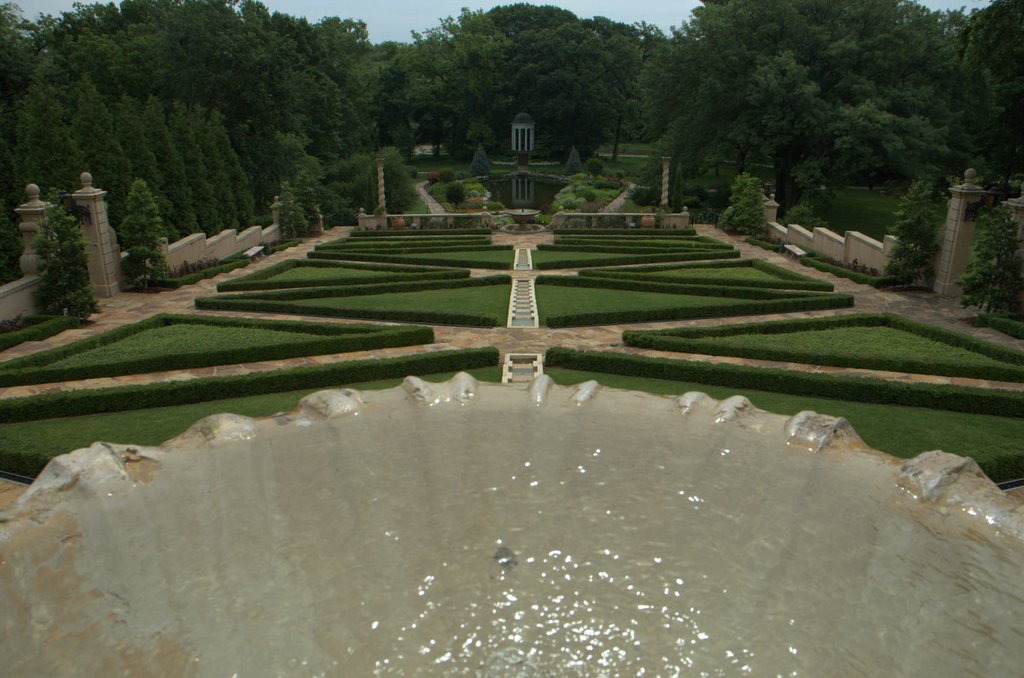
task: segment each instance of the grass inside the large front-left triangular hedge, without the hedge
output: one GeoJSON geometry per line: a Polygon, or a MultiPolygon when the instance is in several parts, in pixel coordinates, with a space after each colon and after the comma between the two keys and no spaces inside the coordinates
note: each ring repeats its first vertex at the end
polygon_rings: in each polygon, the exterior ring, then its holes
{"type": "Polygon", "coordinates": [[[118,364],[172,353],[179,355],[204,354],[225,348],[237,349],[241,358],[244,357],[245,351],[248,349],[305,341],[323,342],[324,337],[301,332],[261,328],[226,328],[182,323],[143,330],[105,346],[97,346],[49,363],[46,367],[79,368],[118,364]]]}

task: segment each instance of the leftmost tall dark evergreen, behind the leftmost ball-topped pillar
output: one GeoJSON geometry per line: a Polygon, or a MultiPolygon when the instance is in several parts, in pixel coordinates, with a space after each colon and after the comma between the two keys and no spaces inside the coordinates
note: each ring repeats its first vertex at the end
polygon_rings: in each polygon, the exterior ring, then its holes
{"type": "Polygon", "coordinates": [[[68,107],[61,92],[37,79],[29,87],[17,116],[14,172],[22,183],[37,183],[44,190],[77,187],[82,155],[65,118],[68,107]]]}

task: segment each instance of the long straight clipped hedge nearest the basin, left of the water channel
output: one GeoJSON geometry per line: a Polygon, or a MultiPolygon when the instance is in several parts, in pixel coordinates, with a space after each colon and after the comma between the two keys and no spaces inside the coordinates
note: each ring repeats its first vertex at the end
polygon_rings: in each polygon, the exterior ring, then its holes
{"type": "Polygon", "coordinates": [[[209,377],[137,386],[61,391],[0,399],[0,421],[36,421],[103,412],[147,410],[245,395],[329,388],[415,374],[472,370],[498,365],[497,348],[417,353],[403,357],[347,361],[232,377],[209,377]]]}

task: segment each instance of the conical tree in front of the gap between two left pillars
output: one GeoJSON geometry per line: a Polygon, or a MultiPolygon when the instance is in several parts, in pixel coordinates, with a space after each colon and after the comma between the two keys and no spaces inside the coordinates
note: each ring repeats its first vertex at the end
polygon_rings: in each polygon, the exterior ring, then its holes
{"type": "Polygon", "coordinates": [[[48,207],[35,248],[40,271],[37,300],[43,310],[82,320],[95,312],[89,261],[78,219],[60,205],[48,207]]]}

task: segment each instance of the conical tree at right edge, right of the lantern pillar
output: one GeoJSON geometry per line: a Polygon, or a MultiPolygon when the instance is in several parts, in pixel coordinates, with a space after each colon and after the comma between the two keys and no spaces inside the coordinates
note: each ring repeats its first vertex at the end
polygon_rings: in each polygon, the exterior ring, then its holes
{"type": "Polygon", "coordinates": [[[964,290],[961,304],[983,311],[1016,311],[1024,292],[1021,260],[1017,256],[1018,225],[1002,205],[978,217],[974,256],[957,284],[964,290]]]}

